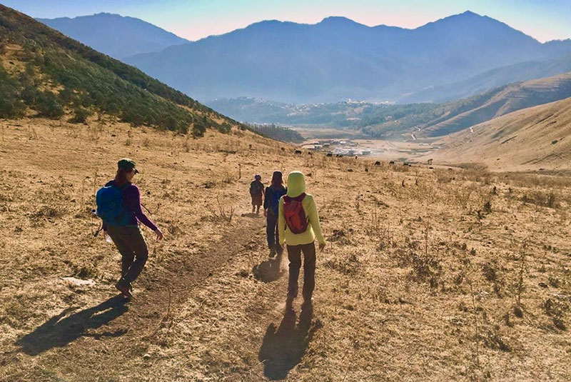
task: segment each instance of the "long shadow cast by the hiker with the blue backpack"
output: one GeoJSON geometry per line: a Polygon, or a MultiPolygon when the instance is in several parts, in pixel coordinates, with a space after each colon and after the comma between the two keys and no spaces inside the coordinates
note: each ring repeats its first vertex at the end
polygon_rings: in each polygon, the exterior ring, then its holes
{"type": "Polygon", "coordinates": [[[37,356],[39,353],[51,348],[63,347],[81,336],[94,337],[118,337],[126,333],[126,330],[114,332],[90,334],[89,329],[99,328],[113,321],[128,308],[125,306],[126,299],[123,296],[115,296],[103,301],[97,306],[84,309],[71,316],[66,314],[74,311],[75,308],[67,308],[57,316],[38,326],[34,331],[16,341],[16,346],[21,346],[21,351],[30,356],[37,356]]]}

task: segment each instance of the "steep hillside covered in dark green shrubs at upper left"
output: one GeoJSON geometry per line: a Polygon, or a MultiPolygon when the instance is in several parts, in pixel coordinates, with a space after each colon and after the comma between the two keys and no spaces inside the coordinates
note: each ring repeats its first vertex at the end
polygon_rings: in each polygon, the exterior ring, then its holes
{"type": "Polygon", "coordinates": [[[51,91],[47,96],[55,95],[61,106],[118,114],[133,124],[178,131],[197,123],[218,126],[217,119],[235,124],[138,69],[1,5],[0,29],[0,69],[31,109],[51,91]],[[30,89],[32,96],[23,95],[30,89]]]}

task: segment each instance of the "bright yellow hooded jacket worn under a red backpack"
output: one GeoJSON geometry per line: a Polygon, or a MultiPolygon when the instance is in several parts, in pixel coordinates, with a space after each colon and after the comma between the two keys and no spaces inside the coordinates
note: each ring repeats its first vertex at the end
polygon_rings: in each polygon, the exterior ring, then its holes
{"type": "MultiPolygon", "coordinates": [[[[295,198],[305,192],[305,178],[299,171],[292,171],[288,175],[288,193],[287,196],[295,198]]],[[[285,223],[285,215],[283,214],[283,196],[280,198],[278,212],[278,233],[280,236],[280,245],[285,242],[288,246],[298,246],[300,244],[309,244],[317,238],[319,243],[325,243],[321,227],[319,226],[319,216],[317,206],[313,201],[313,196],[305,194],[305,198],[301,202],[305,216],[309,219],[308,229],[303,233],[292,233],[288,225],[285,223]]]]}

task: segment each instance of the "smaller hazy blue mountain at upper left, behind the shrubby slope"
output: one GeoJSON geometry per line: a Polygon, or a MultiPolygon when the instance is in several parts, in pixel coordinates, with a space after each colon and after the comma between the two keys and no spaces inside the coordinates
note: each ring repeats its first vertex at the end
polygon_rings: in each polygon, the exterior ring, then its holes
{"type": "Polygon", "coordinates": [[[116,59],[190,42],[141,19],[118,14],[37,20],[116,59]]]}

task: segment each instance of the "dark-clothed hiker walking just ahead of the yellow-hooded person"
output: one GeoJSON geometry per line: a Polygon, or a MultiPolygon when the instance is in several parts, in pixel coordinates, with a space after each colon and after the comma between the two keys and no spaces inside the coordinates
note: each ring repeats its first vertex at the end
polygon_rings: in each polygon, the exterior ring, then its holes
{"type": "Polygon", "coordinates": [[[278,232],[278,210],[280,198],[288,191],[283,186],[283,177],[281,171],[273,171],[270,186],[266,187],[266,193],[263,198],[263,216],[266,216],[266,237],[268,238],[268,248],[270,248],[270,257],[281,256],[283,246],[279,242],[278,232]]]}

